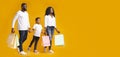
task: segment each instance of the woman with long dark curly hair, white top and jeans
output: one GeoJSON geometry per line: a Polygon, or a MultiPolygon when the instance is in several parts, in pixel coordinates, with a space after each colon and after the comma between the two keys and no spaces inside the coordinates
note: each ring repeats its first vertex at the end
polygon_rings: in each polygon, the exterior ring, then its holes
{"type": "MultiPolygon", "coordinates": [[[[50,53],[54,53],[54,51],[52,50],[52,37],[54,34],[54,29],[60,33],[60,31],[56,28],[56,18],[55,18],[55,12],[54,9],[52,7],[48,7],[46,9],[46,13],[45,13],[45,29],[47,32],[47,35],[50,38],[50,46],[49,46],[49,52],[50,53]]],[[[46,52],[46,47],[44,47],[44,52],[46,52]]]]}

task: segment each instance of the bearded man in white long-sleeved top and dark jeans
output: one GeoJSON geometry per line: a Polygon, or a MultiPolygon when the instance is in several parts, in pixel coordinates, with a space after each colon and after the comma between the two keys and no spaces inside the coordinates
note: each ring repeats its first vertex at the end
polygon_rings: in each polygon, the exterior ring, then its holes
{"type": "Polygon", "coordinates": [[[29,16],[27,13],[27,5],[26,3],[21,4],[21,10],[17,12],[15,15],[13,22],[12,22],[12,33],[15,33],[14,26],[15,22],[18,20],[18,30],[19,30],[19,43],[18,51],[22,55],[26,55],[26,53],[23,51],[22,44],[27,39],[28,32],[30,31],[30,24],[29,24],[29,16]]]}

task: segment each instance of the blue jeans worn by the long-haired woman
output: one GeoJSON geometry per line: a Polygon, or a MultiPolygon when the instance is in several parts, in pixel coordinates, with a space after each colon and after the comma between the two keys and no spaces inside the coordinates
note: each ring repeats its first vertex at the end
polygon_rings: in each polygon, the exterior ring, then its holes
{"type": "Polygon", "coordinates": [[[51,46],[52,46],[52,37],[53,37],[53,34],[54,34],[54,26],[47,26],[46,32],[47,32],[47,35],[49,36],[49,39],[50,39],[49,50],[51,50],[51,46]]]}

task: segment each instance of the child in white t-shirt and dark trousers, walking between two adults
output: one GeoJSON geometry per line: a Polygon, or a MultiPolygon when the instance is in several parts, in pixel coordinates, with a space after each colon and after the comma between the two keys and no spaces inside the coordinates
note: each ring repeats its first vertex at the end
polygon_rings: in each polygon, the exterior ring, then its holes
{"type": "Polygon", "coordinates": [[[34,24],[33,29],[32,29],[33,31],[35,30],[35,33],[33,35],[32,41],[31,41],[31,43],[30,43],[30,45],[28,47],[28,51],[30,50],[30,47],[32,46],[33,42],[35,42],[35,44],[34,44],[34,53],[39,53],[37,51],[37,43],[38,43],[41,31],[42,31],[42,25],[40,24],[40,18],[39,17],[37,17],[35,19],[35,22],[36,22],[36,24],[34,24]]]}

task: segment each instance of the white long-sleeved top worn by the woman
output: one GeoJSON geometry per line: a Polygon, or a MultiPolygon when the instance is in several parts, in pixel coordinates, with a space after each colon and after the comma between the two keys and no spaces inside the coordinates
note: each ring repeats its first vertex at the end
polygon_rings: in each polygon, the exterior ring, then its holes
{"type": "Polygon", "coordinates": [[[56,28],[56,20],[55,17],[51,17],[50,15],[45,16],[45,27],[54,26],[56,28]]]}

